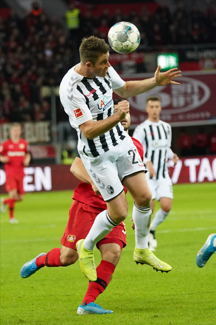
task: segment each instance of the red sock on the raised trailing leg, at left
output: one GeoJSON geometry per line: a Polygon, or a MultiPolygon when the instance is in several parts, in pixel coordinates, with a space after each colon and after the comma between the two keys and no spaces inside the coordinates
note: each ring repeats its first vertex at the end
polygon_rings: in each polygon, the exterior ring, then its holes
{"type": "Polygon", "coordinates": [[[38,268],[48,266],[48,267],[57,267],[63,266],[60,261],[60,251],[61,248],[53,248],[46,255],[42,255],[36,259],[35,264],[38,268]]]}

